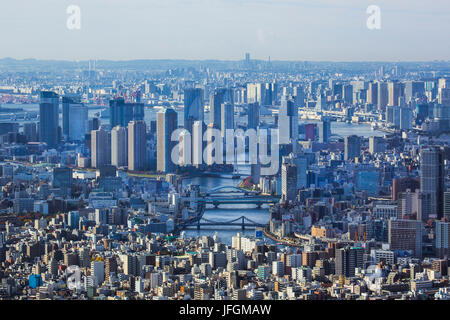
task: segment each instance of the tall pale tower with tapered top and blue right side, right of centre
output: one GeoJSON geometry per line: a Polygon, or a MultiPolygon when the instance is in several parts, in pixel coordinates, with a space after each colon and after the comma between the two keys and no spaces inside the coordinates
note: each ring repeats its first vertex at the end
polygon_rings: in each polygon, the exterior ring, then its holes
{"type": "Polygon", "coordinates": [[[296,143],[298,139],[298,108],[291,97],[281,99],[278,114],[279,143],[296,143]]]}

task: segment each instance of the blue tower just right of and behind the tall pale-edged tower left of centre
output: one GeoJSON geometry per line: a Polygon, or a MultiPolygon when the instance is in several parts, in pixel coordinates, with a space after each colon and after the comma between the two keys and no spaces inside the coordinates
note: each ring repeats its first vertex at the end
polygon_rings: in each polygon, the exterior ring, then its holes
{"type": "Polygon", "coordinates": [[[192,133],[194,121],[203,121],[203,89],[188,88],[184,90],[184,128],[192,133]]]}

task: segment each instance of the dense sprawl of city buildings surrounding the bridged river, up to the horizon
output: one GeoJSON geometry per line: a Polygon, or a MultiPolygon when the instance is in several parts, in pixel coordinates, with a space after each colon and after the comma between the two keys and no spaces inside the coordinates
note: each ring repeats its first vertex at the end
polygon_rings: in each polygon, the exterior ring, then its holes
{"type": "Polygon", "coordinates": [[[0,73],[39,103],[0,109],[0,297],[449,299],[447,69],[364,68],[0,73]],[[279,199],[262,230],[186,236],[214,174],[279,199]]]}

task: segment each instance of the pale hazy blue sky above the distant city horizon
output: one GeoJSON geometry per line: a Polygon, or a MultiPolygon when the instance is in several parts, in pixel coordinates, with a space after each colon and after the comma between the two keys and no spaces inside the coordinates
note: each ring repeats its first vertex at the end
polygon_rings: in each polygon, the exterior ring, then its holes
{"type": "Polygon", "coordinates": [[[3,0],[0,58],[450,60],[449,0],[3,0]],[[69,30],[69,5],[81,29],[69,30]],[[381,29],[366,26],[369,5],[381,29]]]}

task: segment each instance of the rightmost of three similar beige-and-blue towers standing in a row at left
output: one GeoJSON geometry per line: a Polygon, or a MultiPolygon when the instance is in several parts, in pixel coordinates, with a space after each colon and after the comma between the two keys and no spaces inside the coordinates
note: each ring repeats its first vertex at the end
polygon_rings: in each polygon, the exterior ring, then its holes
{"type": "Polygon", "coordinates": [[[128,124],[128,169],[144,171],[147,168],[147,126],[143,120],[128,124]]]}

